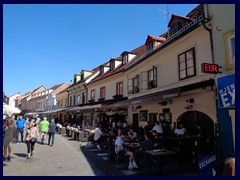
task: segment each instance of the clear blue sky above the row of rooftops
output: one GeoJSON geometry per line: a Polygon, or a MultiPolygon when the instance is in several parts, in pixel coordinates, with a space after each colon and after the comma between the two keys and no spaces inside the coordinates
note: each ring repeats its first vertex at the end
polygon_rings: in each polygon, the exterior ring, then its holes
{"type": "Polygon", "coordinates": [[[197,4],[4,4],[3,90],[24,94],[73,79],[167,31],[197,4]]]}

